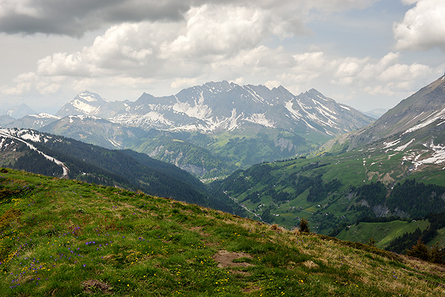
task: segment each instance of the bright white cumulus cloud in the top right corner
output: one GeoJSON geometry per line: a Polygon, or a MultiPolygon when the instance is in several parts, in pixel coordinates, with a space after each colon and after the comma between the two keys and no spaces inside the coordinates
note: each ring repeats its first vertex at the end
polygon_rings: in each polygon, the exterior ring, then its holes
{"type": "Polygon", "coordinates": [[[401,23],[394,23],[396,49],[423,50],[438,47],[445,51],[445,1],[418,0],[401,23]]]}

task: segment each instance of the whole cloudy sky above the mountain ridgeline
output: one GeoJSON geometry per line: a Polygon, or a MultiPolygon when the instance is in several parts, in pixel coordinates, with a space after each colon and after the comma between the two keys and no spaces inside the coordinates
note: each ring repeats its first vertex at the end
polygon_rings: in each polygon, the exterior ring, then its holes
{"type": "Polygon", "coordinates": [[[390,109],[445,72],[444,0],[0,0],[0,107],[208,81],[390,109]]]}

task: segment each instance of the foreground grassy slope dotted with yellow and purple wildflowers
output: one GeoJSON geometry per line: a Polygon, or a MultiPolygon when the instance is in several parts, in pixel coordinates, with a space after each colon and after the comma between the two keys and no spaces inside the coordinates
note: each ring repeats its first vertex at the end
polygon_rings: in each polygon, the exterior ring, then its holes
{"type": "Polygon", "coordinates": [[[1,296],[445,294],[443,266],[167,198],[2,171],[1,296]]]}

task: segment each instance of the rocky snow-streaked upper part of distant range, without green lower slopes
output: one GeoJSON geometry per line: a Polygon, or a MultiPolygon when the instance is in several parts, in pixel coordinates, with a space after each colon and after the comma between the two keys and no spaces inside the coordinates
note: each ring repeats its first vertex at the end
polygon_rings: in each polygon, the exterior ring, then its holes
{"type": "Polygon", "coordinates": [[[317,90],[298,96],[283,87],[239,86],[227,81],[205,83],[171,96],[142,94],[134,102],[109,103],[98,94],[79,93],[58,116],[88,115],[135,127],[221,133],[261,125],[298,134],[340,135],[372,119],[338,104],[317,90]]]}

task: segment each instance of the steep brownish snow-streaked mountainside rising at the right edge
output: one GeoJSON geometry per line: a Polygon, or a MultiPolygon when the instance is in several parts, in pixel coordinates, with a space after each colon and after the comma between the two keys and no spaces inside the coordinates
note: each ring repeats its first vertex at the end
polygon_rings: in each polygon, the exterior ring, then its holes
{"type": "MultiPolygon", "coordinates": [[[[376,144],[386,150],[419,149],[426,143],[445,143],[445,76],[420,89],[371,125],[342,135],[323,146],[348,150],[376,144]]],[[[428,146],[429,150],[433,146],[428,146]]]]}

